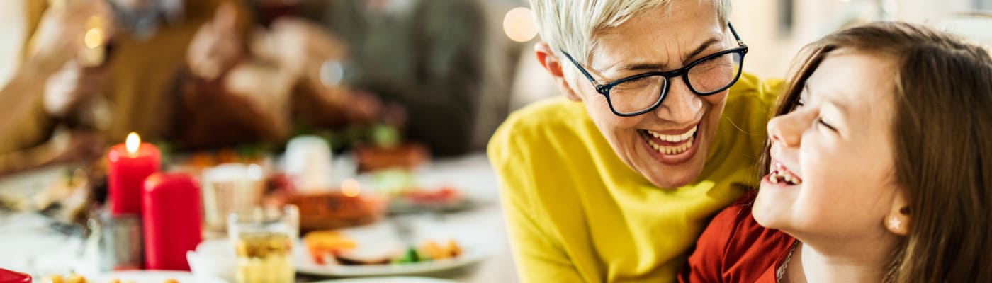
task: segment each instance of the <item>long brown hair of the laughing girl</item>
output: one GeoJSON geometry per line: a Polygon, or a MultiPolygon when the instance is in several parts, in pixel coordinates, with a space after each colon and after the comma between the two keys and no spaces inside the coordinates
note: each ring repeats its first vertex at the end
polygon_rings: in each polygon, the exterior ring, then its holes
{"type": "MultiPolygon", "coordinates": [[[[776,116],[795,109],[806,79],[838,48],[897,64],[894,176],[911,221],[886,282],[992,282],[992,56],[919,25],[847,29],[804,48],[776,116]]],[[[767,149],[763,159],[767,174],[767,149]]]]}

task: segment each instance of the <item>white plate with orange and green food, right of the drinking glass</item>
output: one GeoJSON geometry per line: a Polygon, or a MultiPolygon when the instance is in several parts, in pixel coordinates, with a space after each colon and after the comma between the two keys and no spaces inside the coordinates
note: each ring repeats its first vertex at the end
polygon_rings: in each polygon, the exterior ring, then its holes
{"type": "Polygon", "coordinates": [[[310,232],[295,249],[297,272],[335,277],[417,275],[472,265],[491,251],[474,238],[396,221],[310,232]]]}

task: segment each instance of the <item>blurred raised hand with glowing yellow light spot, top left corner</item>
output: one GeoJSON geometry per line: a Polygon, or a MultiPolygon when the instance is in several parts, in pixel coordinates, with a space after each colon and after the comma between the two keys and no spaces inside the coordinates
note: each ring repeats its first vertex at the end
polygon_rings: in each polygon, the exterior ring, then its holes
{"type": "Polygon", "coordinates": [[[29,67],[54,72],[87,48],[102,48],[114,35],[114,18],[106,1],[61,0],[45,11],[29,50],[29,67]]]}

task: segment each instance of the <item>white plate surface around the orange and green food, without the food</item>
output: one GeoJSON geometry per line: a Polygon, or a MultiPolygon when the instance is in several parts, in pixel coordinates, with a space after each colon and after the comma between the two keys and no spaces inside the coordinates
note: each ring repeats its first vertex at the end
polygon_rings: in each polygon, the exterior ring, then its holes
{"type": "MultiPolygon", "coordinates": [[[[368,227],[341,230],[341,232],[345,235],[351,236],[352,238],[358,240],[359,246],[362,246],[363,240],[369,240],[371,238],[376,238],[374,241],[389,241],[389,239],[382,239],[382,235],[391,235],[392,231],[394,230],[389,225],[382,223],[374,224],[368,227]]],[[[297,268],[297,272],[311,275],[333,277],[417,275],[465,267],[485,259],[492,251],[489,245],[486,244],[485,241],[480,241],[479,238],[455,235],[451,235],[450,238],[453,238],[458,242],[458,245],[461,246],[462,253],[456,257],[442,260],[375,265],[342,265],[336,263],[317,264],[310,256],[310,252],[307,251],[306,245],[301,241],[300,245],[298,245],[301,248],[294,248],[293,261],[297,268]]]]}

